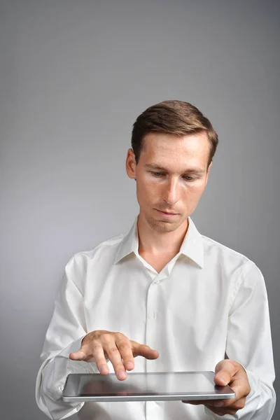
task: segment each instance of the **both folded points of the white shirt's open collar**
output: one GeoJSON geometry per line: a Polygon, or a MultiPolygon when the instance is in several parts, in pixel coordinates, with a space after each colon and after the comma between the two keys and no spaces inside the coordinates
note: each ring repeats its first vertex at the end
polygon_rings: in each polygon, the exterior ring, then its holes
{"type": "MultiPolygon", "coordinates": [[[[127,234],[125,234],[125,236],[123,237],[123,241],[120,242],[120,246],[118,248],[118,252],[114,261],[115,264],[123,258],[125,258],[130,253],[139,255],[137,219],[138,217],[135,219],[132,228],[130,228],[127,234]]],[[[186,257],[190,258],[190,260],[193,260],[197,265],[203,268],[204,248],[202,236],[200,235],[200,232],[198,232],[197,228],[195,227],[195,223],[193,223],[190,217],[188,218],[188,221],[188,231],[181,245],[179,255],[186,255],[186,257]]]]}

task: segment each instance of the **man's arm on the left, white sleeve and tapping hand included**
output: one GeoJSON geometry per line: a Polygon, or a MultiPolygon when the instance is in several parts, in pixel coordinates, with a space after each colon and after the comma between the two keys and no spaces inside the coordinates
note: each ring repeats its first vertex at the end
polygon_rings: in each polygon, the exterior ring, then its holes
{"type": "Polygon", "coordinates": [[[69,373],[109,374],[107,361],[110,360],[118,379],[124,380],[126,370],[134,368],[134,357],[158,358],[158,351],[134,342],[120,332],[97,330],[87,333],[90,327],[85,322],[83,288],[83,278],[73,257],[66,265],[36,380],[37,405],[55,420],[71,416],[84,404],[60,399],[69,373]]]}

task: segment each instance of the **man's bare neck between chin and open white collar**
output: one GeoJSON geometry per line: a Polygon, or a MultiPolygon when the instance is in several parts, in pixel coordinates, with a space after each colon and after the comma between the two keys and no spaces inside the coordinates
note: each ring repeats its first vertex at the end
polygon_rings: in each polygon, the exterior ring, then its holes
{"type": "Polygon", "coordinates": [[[188,230],[188,219],[172,232],[159,232],[151,228],[146,219],[139,214],[137,221],[139,253],[153,255],[179,253],[183,239],[188,230]]]}

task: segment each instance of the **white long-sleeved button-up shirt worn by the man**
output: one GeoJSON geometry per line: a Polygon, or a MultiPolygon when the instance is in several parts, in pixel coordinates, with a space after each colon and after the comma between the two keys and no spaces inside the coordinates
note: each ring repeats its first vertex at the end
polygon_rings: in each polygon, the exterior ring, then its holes
{"type": "MultiPolygon", "coordinates": [[[[251,393],[236,416],[222,418],[271,419],[274,364],[265,281],[251,260],[200,235],[189,222],[179,253],[160,273],[139,255],[137,220],[126,235],[68,262],[36,381],[36,402],[49,417],[78,412],[86,420],[221,419],[204,405],[181,401],[62,402],[67,374],[98,372],[94,363],[70,360],[69,353],[87,332],[109,330],[159,351],[157,360],[135,358],[134,372],[214,370],[224,358],[237,360],[251,393]]],[[[113,372],[111,362],[109,367],[113,372]]]]}

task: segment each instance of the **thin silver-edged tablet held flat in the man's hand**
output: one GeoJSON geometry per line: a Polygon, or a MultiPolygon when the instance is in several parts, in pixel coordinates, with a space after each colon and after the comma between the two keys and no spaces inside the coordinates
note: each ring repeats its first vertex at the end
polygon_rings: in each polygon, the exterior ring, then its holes
{"type": "Polygon", "coordinates": [[[229,386],[216,386],[214,372],[127,372],[119,381],[115,373],[69,374],[62,400],[71,401],[157,401],[218,400],[235,398],[229,386]]]}

